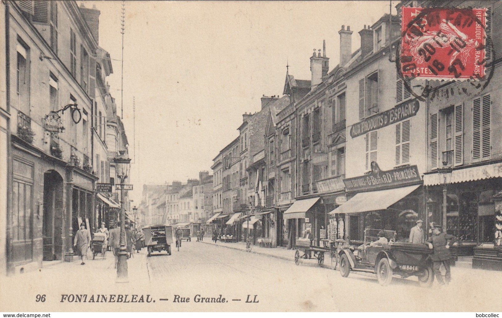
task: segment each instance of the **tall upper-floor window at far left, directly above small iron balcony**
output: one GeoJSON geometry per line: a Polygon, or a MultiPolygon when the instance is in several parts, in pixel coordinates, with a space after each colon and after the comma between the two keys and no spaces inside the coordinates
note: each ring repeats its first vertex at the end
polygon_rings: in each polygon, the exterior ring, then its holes
{"type": "Polygon", "coordinates": [[[30,49],[24,44],[17,44],[16,91],[18,109],[30,114],[30,49]]]}

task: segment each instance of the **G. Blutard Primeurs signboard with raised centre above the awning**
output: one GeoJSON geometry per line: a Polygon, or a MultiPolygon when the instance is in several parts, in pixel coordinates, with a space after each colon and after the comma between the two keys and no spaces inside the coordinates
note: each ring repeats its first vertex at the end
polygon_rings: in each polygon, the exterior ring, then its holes
{"type": "Polygon", "coordinates": [[[392,186],[408,186],[420,182],[417,166],[381,171],[378,164],[371,163],[371,173],[368,175],[344,179],[347,192],[368,191],[392,186]]]}

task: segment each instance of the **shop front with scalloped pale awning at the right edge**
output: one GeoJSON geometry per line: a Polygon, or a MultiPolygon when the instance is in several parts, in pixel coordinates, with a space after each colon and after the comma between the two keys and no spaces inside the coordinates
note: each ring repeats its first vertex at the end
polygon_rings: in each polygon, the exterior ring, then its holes
{"type": "MultiPolygon", "coordinates": [[[[473,267],[493,265],[496,255],[500,255],[495,243],[497,221],[501,221],[496,213],[500,200],[497,194],[502,190],[502,163],[429,173],[424,176],[424,185],[428,214],[443,224],[446,212],[446,230],[458,238],[457,255],[473,256],[473,267]],[[495,258],[490,259],[491,254],[495,258]]],[[[502,262],[502,258],[497,261],[502,262]]]]}

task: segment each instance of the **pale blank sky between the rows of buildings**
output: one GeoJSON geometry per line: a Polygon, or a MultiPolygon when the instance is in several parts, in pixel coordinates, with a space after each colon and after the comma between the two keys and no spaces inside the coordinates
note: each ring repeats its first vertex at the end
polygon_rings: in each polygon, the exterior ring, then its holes
{"type": "MultiPolygon", "coordinates": [[[[101,12],[99,46],[113,59],[107,81],[120,113],[121,2],[77,3],[101,12]]],[[[238,136],[242,114],[259,111],[263,95],[282,96],[287,64],[296,79],[310,80],[310,56],[326,40],[333,69],[341,26],[354,31],[355,51],[357,32],[389,13],[390,3],[126,1],[123,122],[135,189],[129,195],[139,204],[144,184],[212,173],[213,158],[238,136]]]]}

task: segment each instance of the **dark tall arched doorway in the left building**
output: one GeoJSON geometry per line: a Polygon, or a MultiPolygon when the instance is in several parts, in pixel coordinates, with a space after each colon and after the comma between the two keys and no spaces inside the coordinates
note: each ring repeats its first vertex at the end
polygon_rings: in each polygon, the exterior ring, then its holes
{"type": "Polygon", "coordinates": [[[43,260],[63,256],[63,178],[54,170],[44,174],[43,260]]]}

